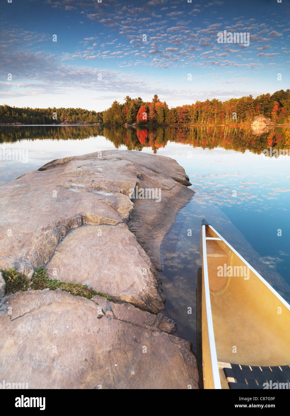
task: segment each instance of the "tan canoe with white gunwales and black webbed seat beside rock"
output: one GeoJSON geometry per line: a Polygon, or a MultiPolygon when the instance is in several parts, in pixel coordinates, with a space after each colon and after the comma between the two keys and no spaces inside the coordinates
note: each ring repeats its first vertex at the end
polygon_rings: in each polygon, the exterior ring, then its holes
{"type": "Polygon", "coordinates": [[[205,389],[290,389],[290,305],[203,220],[205,389]]]}

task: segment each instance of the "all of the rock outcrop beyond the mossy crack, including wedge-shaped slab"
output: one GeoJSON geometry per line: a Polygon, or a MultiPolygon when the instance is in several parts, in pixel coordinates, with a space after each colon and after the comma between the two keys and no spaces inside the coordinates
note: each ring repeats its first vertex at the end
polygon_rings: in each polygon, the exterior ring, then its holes
{"type": "Polygon", "coordinates": [[[163,237],[193,195],[188,185],[173,159],[135,151],[49,162],[0,186],[0,268],[31,277],[46,266],[52,278],[158,312],[165,299],[153,265],[161,267],[163,237]],[[160,202],[131,201],[136,185],[160,188],[160,202]],[[102,237],[97,225],[106,225],[102,237]]]}

